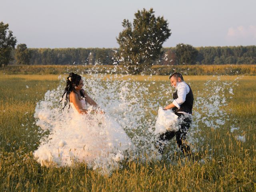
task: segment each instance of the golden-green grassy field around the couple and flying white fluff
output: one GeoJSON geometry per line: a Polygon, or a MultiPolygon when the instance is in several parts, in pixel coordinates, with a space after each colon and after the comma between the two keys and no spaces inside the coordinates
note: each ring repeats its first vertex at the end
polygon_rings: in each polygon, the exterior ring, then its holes
{"type": "MultiPolygon", "coordinates": [[[[121,78],[121,77],[120,77],[121,78]]],[[[126,76],[145,81],[148,76],[126,76]]],[[[236,76],[221,76],[218,83],[236,76]]],[[[196,96],[214,76],[186,76],[196,96]]],[[[167,76],[152,76],[156,86],[167,76]]],[[[256,190],[256,76],[243,76],[228,97],[226,123],[202,130],[206,140],[200,159],[173,155],[174,163],[123,162],[123,168],[102,175],[86,168],[41,167],[33,159],[39,131],[33,117],[36,103],[59,84],[58,75],[0,75],[0,190],[1,191],[255,191],[256,190]],[[239,130],[230,131],[235,125],[239,130]],[[236,139],[238,135],[245,142],[236,139]]],[[[168,82],[167,82],[168,83],[168,82]]],[[[152,90],[153,91],[153,90],[152,90]]],[[[207,94],[207,93],[205,93],[207,94]]],[[[226,94],[226,93],[225,93],[226,94]]],[[[146,96],[145,96],[146,97],[146,96]]],[[[152,96],[157,97],[157,93],[152,96]]],[[[196,99],[196,97],[195,97],[196,99]]],[[[165,101],[160,104],[164,105],[165,101]]],[[[173,142],[174,144],[174,142],[173,142]]],[[[140,157],[138,157],[139,159],[140,157]]]]}

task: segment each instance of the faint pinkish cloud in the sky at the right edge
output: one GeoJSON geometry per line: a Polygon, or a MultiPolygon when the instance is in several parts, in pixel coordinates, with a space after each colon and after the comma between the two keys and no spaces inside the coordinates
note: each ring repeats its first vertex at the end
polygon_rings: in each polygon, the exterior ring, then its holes
{"type": "Polygon", "coordinates": [[[250,25],[248,27],[238,26],[236,28],[228,28],[228,38],[238,38],[244,40],[256,40],[256,26],[250,25]]]}

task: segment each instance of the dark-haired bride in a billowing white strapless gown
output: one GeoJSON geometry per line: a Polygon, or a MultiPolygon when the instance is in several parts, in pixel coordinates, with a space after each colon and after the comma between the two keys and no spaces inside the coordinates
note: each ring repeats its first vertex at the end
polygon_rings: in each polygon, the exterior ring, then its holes
{"type": "Polygon", "coordinates": [[[100,110],[83,86],[82,77],[70,73],[62,94],[62,112],[54,108],[56,99],[52,98],[59,96],[56,90],[48,91],[45,100],[37,104],[36,124],[50,131],[34,151],[34,157],[41,165],[70,166],[84,162],[94,169],[113,168],[134,150],[134,144],[124,130],[100,110]],[[64,110],[67,104],[72,110],[64,110]]]}

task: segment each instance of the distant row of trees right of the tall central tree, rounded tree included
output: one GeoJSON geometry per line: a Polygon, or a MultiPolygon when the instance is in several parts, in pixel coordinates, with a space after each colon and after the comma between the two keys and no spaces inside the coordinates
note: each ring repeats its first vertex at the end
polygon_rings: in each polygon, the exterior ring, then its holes
{"type": "Polygon", "coordinates": [[[162,65],[256,64],[256,46],[198,47],[178,44],[163,48],[162,65]],[[183,46],[182,46],[183,45],[183,46]],[[181,50],[183,47],[183,50],[181,50]]]}

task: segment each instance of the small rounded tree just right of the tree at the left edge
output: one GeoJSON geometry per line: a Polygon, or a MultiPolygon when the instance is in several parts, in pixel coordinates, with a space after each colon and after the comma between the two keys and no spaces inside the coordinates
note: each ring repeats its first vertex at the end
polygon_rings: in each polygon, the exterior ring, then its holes
{"type": "Polygon", "coordinates": [[[31,58],[31,51],[27,48],[26,44],[18,44],[15,50],[15,59],[17,64],[29,65],[31,58]]]}

